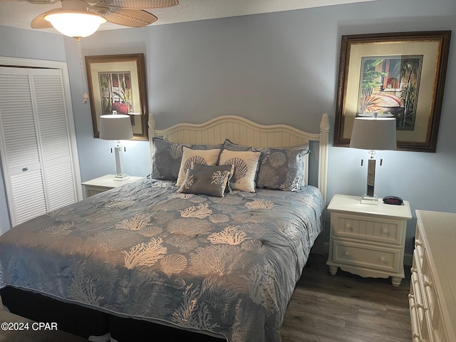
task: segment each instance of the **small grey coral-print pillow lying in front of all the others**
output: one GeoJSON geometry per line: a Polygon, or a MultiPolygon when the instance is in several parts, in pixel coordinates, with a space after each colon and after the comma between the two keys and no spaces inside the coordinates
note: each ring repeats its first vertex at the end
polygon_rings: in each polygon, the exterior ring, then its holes
{"type": "Polygon", "coordinates": [[[185,180],[177,192],[224,197],[232,167],[228,167],[227,170],[227,165],[202,165],[197,169],[187,170],[185,180]]]}

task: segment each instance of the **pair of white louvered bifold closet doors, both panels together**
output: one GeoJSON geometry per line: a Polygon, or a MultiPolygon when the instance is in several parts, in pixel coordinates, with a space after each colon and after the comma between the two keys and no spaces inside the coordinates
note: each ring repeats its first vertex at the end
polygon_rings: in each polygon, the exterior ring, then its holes
{"type": "Polygon", "coordinates": [[[63,68],[0,67],[0,156],[11,227],[81,199],[69,118],[63,68]]]}

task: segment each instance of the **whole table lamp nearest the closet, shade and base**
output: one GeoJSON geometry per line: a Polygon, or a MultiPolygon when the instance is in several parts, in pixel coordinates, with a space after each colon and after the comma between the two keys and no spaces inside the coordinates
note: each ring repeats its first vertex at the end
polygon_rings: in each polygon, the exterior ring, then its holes
{"type": "MultiPolygon", "coordinates": [[[[133,128],[129,115],[101,115],[100,116],[100,139],[115,140],[115,176],[114,180],[127,180],[130,176],[122,170],[122,146],[120,140],[133,138],[133,128]]],[[[111,152],[113,150],[111,149],[111,152]]]]}

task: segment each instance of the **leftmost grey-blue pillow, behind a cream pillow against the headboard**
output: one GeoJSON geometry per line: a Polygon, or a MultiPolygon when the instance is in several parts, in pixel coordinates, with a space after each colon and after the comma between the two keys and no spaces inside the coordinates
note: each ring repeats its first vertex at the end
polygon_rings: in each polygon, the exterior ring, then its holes
{"type": "Polygon", "coordinates": [[[189,145],[180,142],[169,142],[160,138],[152,138],[152,169],[147,178],[156,180],[177,180],[180,162],[182,161],[182,147],[192,147],[194,150],[212,150],[222,148],[222,145],[189,145]]]}

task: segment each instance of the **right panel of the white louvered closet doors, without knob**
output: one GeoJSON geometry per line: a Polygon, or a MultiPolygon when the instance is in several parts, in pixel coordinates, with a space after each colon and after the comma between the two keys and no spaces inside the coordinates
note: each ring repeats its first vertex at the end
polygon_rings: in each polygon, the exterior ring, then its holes
{"type": "Polygon", "coordinates": [[[31,69],[48,211],[76,202],[61,71],[31,69]]]}

